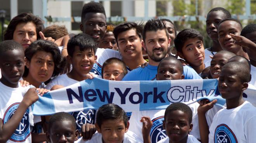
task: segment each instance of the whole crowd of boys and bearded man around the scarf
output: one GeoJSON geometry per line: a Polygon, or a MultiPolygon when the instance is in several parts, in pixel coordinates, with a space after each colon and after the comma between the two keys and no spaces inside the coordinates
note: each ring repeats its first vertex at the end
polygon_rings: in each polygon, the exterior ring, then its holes
{"type": "Polygon", "coordinates": [[[205,49],[198,30],[177,34],[168,19],[151,19],[144,26],[106,24],[104,7],[90,2],[81,13],[83,34],[64,31],[64,36],[57,36],[62,32],[51,32],[58,28],[48,29],[43,30],[42,21],[33,14],[21,13],[10,21],[0,43],[1,143],[256,142],[256,108],[242,96],[248,87],[256,86],[256,24],[243,29],[225,8],[213,8],[206,18],[213,45],[205,49]],[[97,111],[32,118],[30,106],[38,94],[94,77],[113,81],[218,79],[227,108],[214,106],[216,100],[202,100],[125,113],[116,104],[106,104],[97,111]]]}

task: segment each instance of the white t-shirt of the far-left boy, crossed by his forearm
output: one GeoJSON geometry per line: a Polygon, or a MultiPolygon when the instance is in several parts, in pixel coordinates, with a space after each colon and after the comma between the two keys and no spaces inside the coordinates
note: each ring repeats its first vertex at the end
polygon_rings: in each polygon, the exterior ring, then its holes
{"type": "MultiPolygon", "coordinates": [[[[5,86],[0,82],[0,118],[3,119],[3,124],[7,123],[12,115],[17,110],[23,96],[28,91],[30,86],[17,88],[5,86]]],[[[29,123],[29,109],[24,113],[21,123],[17,126],[7,143],[31,143],[31,130],[29,123]]]]}

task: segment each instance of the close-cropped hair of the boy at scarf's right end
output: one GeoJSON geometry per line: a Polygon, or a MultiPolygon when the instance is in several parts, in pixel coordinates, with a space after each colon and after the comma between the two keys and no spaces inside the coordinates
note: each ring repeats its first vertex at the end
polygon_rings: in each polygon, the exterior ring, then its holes
{"type": "Polygon", "coordinates": [[[221,72],[225,68],[230,68],[232,71],[235,71],[235,74],[240,78],[241,83],[249,82],[251,80],[250,69],[242,62],[228,62],[222,67],[221,72]]]}

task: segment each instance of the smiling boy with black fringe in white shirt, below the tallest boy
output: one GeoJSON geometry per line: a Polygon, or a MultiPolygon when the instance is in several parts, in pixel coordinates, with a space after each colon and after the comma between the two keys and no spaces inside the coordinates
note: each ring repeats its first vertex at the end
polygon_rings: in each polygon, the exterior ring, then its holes
{"type": "MultiPolygon", "coordinates": [[[[97,56],[95,52],[97,43],[87,34],[78,34],[72,37],[67,44],[68,62],[72,64],[72,71],[55,77],[47,84],[47,89],[55,85],[69,86],[87,79],[87,74],[91,71],[97,56]]],[[[72,115],[77,120],[77,129],[80,131],[82,124],[95,122],[96,111],[92,109],[73,112],[72,115]]]]}

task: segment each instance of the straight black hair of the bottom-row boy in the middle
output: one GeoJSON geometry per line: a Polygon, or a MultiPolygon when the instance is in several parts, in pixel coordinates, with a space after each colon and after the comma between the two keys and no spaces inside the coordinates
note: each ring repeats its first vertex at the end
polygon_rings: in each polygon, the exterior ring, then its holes
{"type": "Polygon", "coordinates": [[[122,120],[127,126],[128,118],[125,111],[116,104],[102,105],[97,111],[96,123],[101,127],[102,123],[106,120],[122,120]]]}

